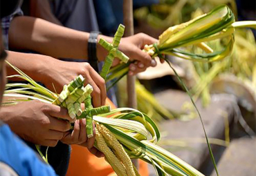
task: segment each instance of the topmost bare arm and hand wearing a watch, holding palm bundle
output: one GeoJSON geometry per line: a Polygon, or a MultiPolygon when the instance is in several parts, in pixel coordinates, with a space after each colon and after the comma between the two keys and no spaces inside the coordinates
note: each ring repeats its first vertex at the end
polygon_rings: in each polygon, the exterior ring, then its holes
{"type": "MultiPolygon", "coordinates": [[[[100,37],[109,42],[112,41],[112,37],[99,35],[98,39],[100,37]]],[[[9,30],[10,48],[34,50],[55,58],[88,59],[88,39],[88,32],[65,28],[33,17],[15,17],[9,30]]],[[[121,39],[119,49],[131,60],[138,61],[138,67],[134,66],[136,71],[132,69],[133,72],[140,72],[149,66],[156,66],[156,61],[141,50],[145,44],[152,44],[156,41],[156,39],[141,33],[121,39]]],[[[98,43],[99,61],[104,61],[106,55],[107,51],[98,43]]]]}

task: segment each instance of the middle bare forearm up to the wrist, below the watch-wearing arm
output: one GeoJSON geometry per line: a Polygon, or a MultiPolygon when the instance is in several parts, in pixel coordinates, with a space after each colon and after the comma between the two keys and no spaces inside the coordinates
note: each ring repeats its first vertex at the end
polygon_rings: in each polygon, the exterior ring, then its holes
{"type": "MultiPolygon", "coordinates": [[[[8,61],[35,81],[44,82],[44,80],[47,79],[47,68],[49,67],[49,63],[53,61],[53,58],[45,55],[8,51],[8,61]]],[[[8,64],[6,64],[6,72],[7,75],[17,74],[17,72],[8,64]]],[[[12,80],[17,79],[12,78],[12,80]]]]}

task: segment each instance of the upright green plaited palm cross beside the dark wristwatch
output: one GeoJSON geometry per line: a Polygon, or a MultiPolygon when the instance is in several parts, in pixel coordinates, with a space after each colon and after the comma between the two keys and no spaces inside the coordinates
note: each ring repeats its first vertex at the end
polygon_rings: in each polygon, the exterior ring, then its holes
{"type": "Polygon", "coordinates": [[[116,31],[115,36],[113,37],[112,43],[108,43],[104,39],[100,39],[99,41],[100,45],[109,51],[109,54],[107,55],[104,65],[102,67],[102,71],[100,72],[100,76],[103,79],[106,79],[109,69],[113,63],[113,59],[118,58],[125,63],[129,61],[129,57],[127,57],[124,53],[118,50],[118,45],[120,43],[122,35],[124,35],[124,32],[125,32],[125,26],[120,24],[118,26],[118,30],[116,31]]]}

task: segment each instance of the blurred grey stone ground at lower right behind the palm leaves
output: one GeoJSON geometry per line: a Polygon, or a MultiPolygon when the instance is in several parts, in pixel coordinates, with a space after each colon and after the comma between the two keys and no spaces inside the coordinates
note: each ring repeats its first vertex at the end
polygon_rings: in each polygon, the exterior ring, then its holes
{"type": "MultiPolygon", "coordinates": [[[[172,110],[180,110],[185,101],[190,101],[188,95],[180,90],[163,90],[155,96],[161,104],[172,110]]],[[[231,128],[229,132],[232,138],[232,126],[237,126],[234,123],[235,109],[232,98],[215,96],[208,108],[202,108],[200,102],[196,102],[196,105],[209,139],[225,139],[225,133],[229,131],[224,125],[225,120],[231,128]]],[[[162,145],[164,142],[172,144],[165,145],[165,149],[199,169],[204,175],[215,176],[199,118],[190,121],[166,120],[161,122],[159,127],[163,134],[162,145]]],[[[225,176],[256,175],[256,138],[250,138],[244,133],[237,136],[231,139],[228,148],[224,141],[221,141],[224,146],[211,144],[219,173],[225,176]]],[[[149,166],[149,173],[150,176],[156,175],[152,166],[149,166]]]]}

